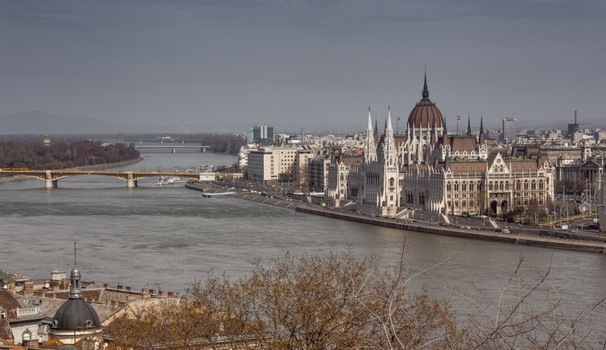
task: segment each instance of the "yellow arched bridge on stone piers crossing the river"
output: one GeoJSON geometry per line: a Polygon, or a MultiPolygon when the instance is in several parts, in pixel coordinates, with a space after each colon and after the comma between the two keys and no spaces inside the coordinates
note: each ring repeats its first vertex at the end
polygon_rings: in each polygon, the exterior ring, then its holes
{"type": "Polygon", "coordinates": [[[0,169],[0,176],[28,176],[43,180],[46,188],[57,188],[57,182],[66,177],[78,175],[100,175],[115,177],[126,182],[128,188],[137,187],[138,180],[153,176],[179,176],[185,179],[214,181],[217,179],[232,179],[233,173],[188,173],[178,171],[95,171],[95,170],[28,170],[0,169]]]}

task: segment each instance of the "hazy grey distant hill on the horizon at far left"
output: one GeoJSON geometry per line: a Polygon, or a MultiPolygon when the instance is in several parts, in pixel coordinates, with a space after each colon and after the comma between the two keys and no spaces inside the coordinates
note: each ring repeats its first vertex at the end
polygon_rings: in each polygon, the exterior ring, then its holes
{"type": "Polygon", "coordinates": [[[119,129],[119,125],[96,119],[59,116],[40,111],[25,111],[0,116],[0,134],[110,133],[119,129]]]}

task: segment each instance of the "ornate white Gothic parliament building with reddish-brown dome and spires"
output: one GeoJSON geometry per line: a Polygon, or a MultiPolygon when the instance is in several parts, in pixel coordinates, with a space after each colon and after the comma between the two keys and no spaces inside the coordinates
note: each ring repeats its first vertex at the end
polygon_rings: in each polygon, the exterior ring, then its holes
{"type": "MultiPolygon", "coordinates": [[[[554,170],[546,155],[505,158],[490,153],[482,119],[477,135],[469,119],[467,133],[449,135],[441,111],[429,99],[427,76],[405,134],[393,134],[390,108],[384,133],[379,137],[377,131],[369,108],[362,164],[329,170],[329,179],[331,171],[333,179],[338,172],[335,185],[348,189],[339,199],[356,200],[360,211],[396,216],[415,208],[433,215],[496,215],[515,206],[546,206],[553,199],[554,170]]],[[[335,198],[338,190],[329,183],[327,197],[335,198]]]]}

